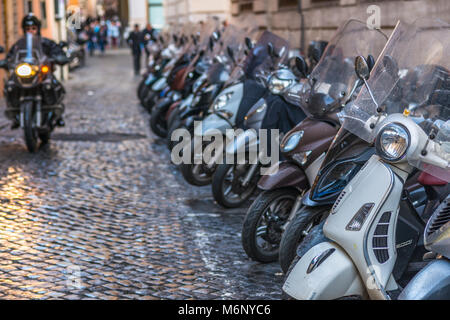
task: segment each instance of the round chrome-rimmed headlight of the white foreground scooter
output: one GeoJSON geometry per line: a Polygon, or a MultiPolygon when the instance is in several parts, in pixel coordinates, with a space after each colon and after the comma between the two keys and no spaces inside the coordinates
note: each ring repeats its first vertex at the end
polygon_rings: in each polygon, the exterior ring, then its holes
{"type": "Polygon", "coordinates": [[[378,133],[377,153],[387,161],[401,160],[408,150],[410,137],[408,130],[397,123],[388,124],[378,133]]]}

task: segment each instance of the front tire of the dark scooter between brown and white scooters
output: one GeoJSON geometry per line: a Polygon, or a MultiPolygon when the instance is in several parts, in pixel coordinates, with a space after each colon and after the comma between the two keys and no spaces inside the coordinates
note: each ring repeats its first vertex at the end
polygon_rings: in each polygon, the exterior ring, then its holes
{"type": "Polygon", "coordinates": [[[328,215],[330,206],[302,207],[283,232],[280,242],[279,262],[281,270],[287,273],[297,256],[297,248],[314,226],[328,215]],[[306,232],[306,234],[305,234],[306,232]]]}

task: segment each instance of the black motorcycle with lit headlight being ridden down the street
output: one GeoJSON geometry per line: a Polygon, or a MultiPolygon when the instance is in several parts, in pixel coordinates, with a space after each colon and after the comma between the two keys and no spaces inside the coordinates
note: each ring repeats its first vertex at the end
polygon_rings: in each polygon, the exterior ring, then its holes
{"type": "MultiPolygon", "coordinates": [[[[67,43],[62,42],[60,46],[65,47],[67,43]]],[[[38,140],[47,143],[55,126],[63,124],[65,90],[53,71],[55,64],[67,64],[69,59],[66,55],[47,57],[40,38],[31,34],[20,39],[14,48],[10,59],[0,61],[0,68],[8,71],[4,87],[5,115],[13,121],[13,129],[24,130],[27,148],[35,152],[38,140]]]]}

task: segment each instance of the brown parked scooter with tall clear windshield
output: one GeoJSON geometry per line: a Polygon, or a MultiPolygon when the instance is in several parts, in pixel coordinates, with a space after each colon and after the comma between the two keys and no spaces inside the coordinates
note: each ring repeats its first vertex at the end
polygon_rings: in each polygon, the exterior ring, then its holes
{"type": "MultiPolygon", "coordinates": [[[[274,174],[261,177],[258,183],[263,192],[249,208],[242,231],[243,248],[252,259],[271,262],[279,257],[279,253],[280,258],[284,258],[280,241],[297,212],[301,210],[303,217],[307,216],[301,221],[305,228],[302,231],[307,232],[320,222],[327,206],[332,203],[329,198],[328,202],[318,201],[313,206],[305,203],[305,194],[340,128],[336,113],[360,88],[354,74],[354,58],[363,54],[373,60],[371,55],[378,56],[386,40],[380,31],[368,29],[363,22],[349,20],[330,41],[308,80],[302,81],[297,91],[290,93],[309,117],[281,141],[281,155],[286,160],[275,164],[274,174]]],[[[297,66],[306,73],[308,68],[303,59],[297,59],[297,66]]],[[[295,242],[297,246],[298,241],[295,242]]],[[[285,250],[291,251],[290,248],[285,250]]]]}

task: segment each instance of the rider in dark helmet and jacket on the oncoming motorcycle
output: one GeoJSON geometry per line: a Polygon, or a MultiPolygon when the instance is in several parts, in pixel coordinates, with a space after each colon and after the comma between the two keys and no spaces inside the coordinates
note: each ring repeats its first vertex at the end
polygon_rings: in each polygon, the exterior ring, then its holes
{"type": "MultiPolygon", "coordinates": [[[[33,14],[29,13],[22,19],[22,30],[24,36],[27,33],[32,34],[33,36],[38,36],[41,39],[41,45],[42,50],[44,51],[44,54],[50,58],[54,58],[57,56],[64,57],[64,60],[69,62],[69,58],[67,58],[64,50],[61,46],[56,44],[53,40],[50,40],[48,38],[41,37],[41,22],[39,19],[33,14]]],[[[8,54],[6,55],[6,60],[11,60],[13,58],[14,52],[16,51],[17,42],[11,47],[8,54]]],[[[54,83],[54,86],[59,85],[59,81],[52,75],[52,82],[54,83]]],[[[65,122],[62,118],[62,116],[57,120],[57,125],[60,127],[63,127],[65,125],[65,122]]],[[[15,122],[12,127],[18,128],[20,124],[18,122],[15,122]]]]}

